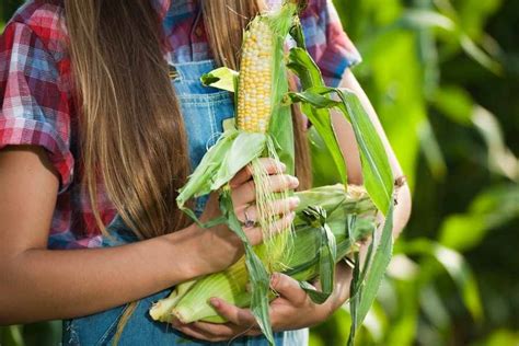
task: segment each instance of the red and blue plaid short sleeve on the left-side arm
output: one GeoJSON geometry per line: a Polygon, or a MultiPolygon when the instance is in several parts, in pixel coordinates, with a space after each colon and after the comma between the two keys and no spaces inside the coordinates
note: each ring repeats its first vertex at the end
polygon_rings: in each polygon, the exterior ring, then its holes
{"type": "Polygon", "coordinates": [[[48,151],[60,176],[72,181],[68,94],[44,41],[25,23],[11,22],[0,36],[0,149],[34,145],[48,151]]]}

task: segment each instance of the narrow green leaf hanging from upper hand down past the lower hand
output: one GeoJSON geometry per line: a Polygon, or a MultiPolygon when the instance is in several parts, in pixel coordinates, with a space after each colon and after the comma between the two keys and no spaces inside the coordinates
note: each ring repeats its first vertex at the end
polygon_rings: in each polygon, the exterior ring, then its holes
{"type": "Polygon", "coordinates": [[[257,324],[270,345],[274,345],[274,335],[269,315],[269,285],[270,276],[265,269],[262,261],[254,252],[240,220],[234,214],[230,189],[224,189],[220,196],[220,210],[228,220],[229,228],[241,239],[245,247],[245,265],[251,280],[251,311],[257,324]]]}

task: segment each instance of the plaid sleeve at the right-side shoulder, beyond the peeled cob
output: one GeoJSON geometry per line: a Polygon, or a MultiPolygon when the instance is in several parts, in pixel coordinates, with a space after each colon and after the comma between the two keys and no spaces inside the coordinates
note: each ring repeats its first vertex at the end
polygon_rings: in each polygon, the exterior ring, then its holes
{"type": "Polygon", "coordinates": [[[362,61],[345,33],[332,0],[310,0],[302,18],[309,53],[330,86],[338,86],[344,71],[362,61]]]}

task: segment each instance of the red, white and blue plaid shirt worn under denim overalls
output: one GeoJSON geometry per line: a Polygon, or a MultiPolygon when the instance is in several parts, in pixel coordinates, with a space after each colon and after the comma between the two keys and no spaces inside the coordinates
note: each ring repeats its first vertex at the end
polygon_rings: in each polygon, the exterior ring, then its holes
{"type": "MultiPolygon", "coordinates": [[[[194,0],[150,0],[163,18],[172,50],[170,62],[210,58],[203,21],[194,0]]],[[[268,0],[270,5],[280,0],[268,0]]],[[[30,0],[0,36],[0,149],[35,145],[48,151],[60,176],[49,230],[49,249],[96,247],[102,243],[92,207],[80,188],[78,115],[72,99],[64,0],[30,0]]],[[[309,50],[331,85],[360,56],[343,32],[331,0],[310,0],[302,15],[309,50]]],[[[99,209],[105,224],[116,215],[99,184],[99,209]]]]}

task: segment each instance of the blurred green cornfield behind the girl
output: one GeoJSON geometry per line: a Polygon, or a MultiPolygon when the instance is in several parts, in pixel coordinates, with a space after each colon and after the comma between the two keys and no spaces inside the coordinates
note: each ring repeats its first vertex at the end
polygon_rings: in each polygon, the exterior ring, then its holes
{"type": "MultiPolygon", "coordinates": [[[[0,28],[21,2],[1,0],[0,28]]],[[[357,344],[519,345],[519,1],[335,4],[414,196],[357,344]]],[[[311,344],[345,345],[348,326],[345,308],[311,344]]],[[[59,322],[0,333],[2,346],[60,342],[59,322]]]]}

